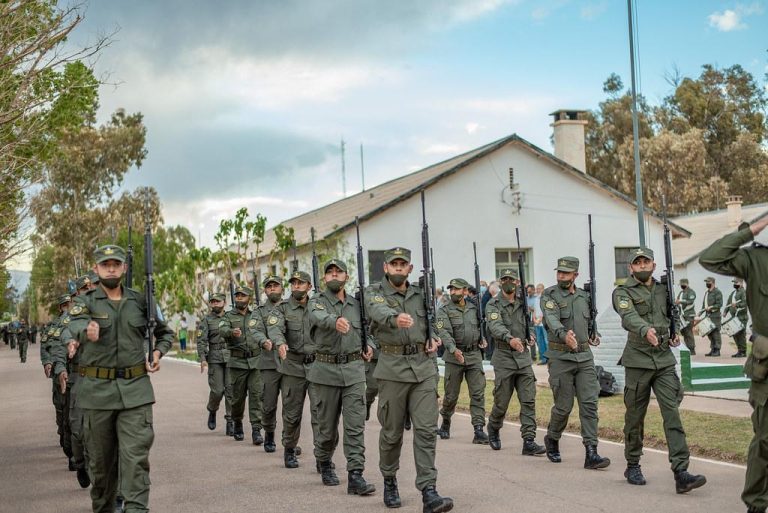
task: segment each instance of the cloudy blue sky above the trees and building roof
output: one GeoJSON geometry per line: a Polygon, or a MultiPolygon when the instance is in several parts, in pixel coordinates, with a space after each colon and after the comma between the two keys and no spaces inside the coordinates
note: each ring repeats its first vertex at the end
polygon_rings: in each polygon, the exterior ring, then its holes
{"type": "MultiPolygon", "coordinates": [[[[766,72],[765,2],[638,2],[641,92],[674,68],[766,72]],[[760,27],[763,29],[760,29],[760,27]],[[760,36],[763,34],[763,37],[760,36]]],[[[213,245],[241,206],[269,224],[518,133],[550,148],[548,114],[629,83],[619,0],[92,0],[73,38],[118,30],[96,68],[102,118],[141,111],[168,224],[213,245]]]]}

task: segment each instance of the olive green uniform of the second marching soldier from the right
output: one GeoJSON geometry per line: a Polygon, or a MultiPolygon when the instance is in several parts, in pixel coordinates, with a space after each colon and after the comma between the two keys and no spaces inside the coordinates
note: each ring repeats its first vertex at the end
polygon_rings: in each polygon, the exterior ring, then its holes
{"type": "Polygon", "coordinates": [[[579,401],[579,421],[584,445],[597,445],[597,397],[600,383],[589,346],[589,294],[576,288],[574,292],[555,285],[541,296],[544,322],[547,326],[547,365],[552,405],[547,436],[559,440],[573,409],[574,397],[579,401]],[[571,350],[565,345],[569,330],[576,334],[578,345],[571,350]]]}

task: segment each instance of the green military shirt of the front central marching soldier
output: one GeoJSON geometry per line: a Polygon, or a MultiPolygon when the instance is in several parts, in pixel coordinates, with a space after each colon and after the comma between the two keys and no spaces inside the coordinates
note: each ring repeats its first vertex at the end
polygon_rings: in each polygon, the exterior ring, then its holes
{"type": "MultiPolygon", "coordinates": [[[[421,288],[409,283],[403,293],[392,287],[388,280],[382,280],[368,288],[365,299],[368,303],[366,312],[371,319],[371,332],[375,333],[379,347],[414,344],[423,347],[427,341],[427,311],[421,288]],[[397,316],[401,313],[413,317],[413,326],[407,329],[397,327],[397,316]]],[[[376,379],[421,383],[436,374],[435,356],[423,350],[409,355],[381,351],[373,376],[376,379]]]]}

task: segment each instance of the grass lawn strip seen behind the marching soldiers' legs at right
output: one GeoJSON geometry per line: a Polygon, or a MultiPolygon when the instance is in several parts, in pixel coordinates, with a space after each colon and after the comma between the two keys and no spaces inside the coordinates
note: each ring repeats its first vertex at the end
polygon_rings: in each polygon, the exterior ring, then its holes
{"type": "MultiPolygon", "coordinates": [[[[443,380],[440,379],[438,392],[443,394],[443,380]]],[[[685,401],[685,399],[683,399],[685,401]]],[[[537,387],[536,421],[539,427],[549,423],[552,408],[552,391],[548,387],[537,387]]],[[[490,413],[493,406],[493,382],[485,387],[485,411],[490,413]]],[[[469,394],[466,383],[461,386],[461,395],[457,409],[469,411],[469,394]]],[[[599,436],[615,442],[624,441],[624,400],[621,394],[613,397],[601,397],[598,414],[600,416],[599,436]]],[[[517,396],[512,397],[506,419],[519,422],[520,403],[517,396]]],[[[730,417],[713,413],[680,410],[691,454],[705,458],[734,463],[746,463],[747,448],[752,439],[752,423],[748,418],[730,417]]],[[[567,431],[579,433],[579,406],[573,406],[567,431]]],[[[666,449],[661,413],[654,404],[648,408],[645,418],[645,447],[666,449]]]]}

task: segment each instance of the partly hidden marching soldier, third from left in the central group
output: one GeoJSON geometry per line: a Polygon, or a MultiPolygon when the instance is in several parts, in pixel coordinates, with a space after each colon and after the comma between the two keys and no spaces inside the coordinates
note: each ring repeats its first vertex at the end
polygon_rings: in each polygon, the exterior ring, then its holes
{"type": "Polygon", "coordinates": [[[267,276],[262,284],[267,293],[267,302],[257,308],[261,322],[256,324],[256,341],[261,345],[258,369],[261,373],[261,413],[264,425],[264,451],[275,452],[275,428],[277,427],[277,400],[283,377],[277,369],[277,353],[267,334],[267,319],[272,310],[283,300],[283,279],[267,276]]]}

